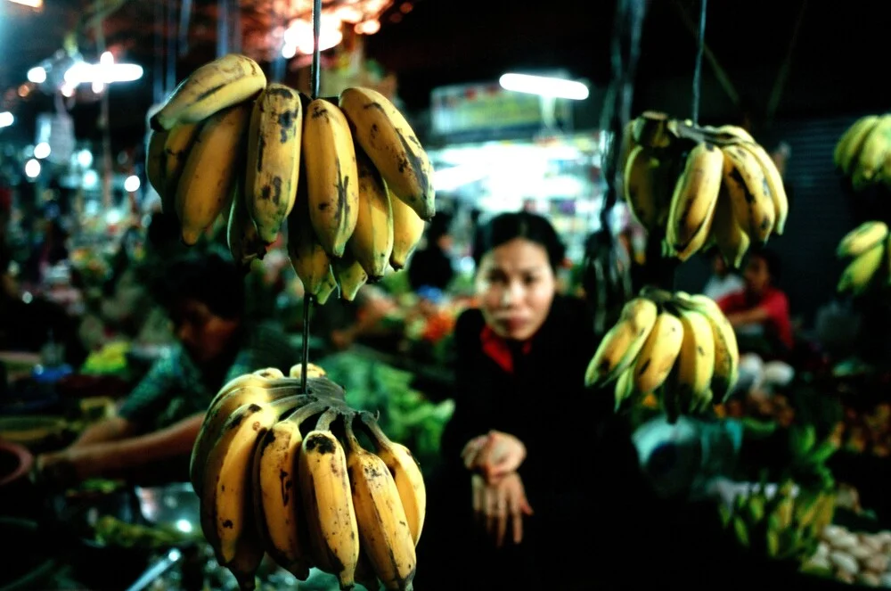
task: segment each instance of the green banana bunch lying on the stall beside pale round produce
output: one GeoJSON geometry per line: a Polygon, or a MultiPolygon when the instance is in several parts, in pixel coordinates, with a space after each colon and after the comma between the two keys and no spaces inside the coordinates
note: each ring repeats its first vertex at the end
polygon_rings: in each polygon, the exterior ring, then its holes
{"type": "Polygon", "coordinates": [[[820,544],[823,529],[832,522],[835,495],[830,492],[795,494],[786,481],[768,496],[764,484],[750,494],[721,505],[724,528],[732,530],[741,546],[778,560],[805,562],[820,544]]]}

